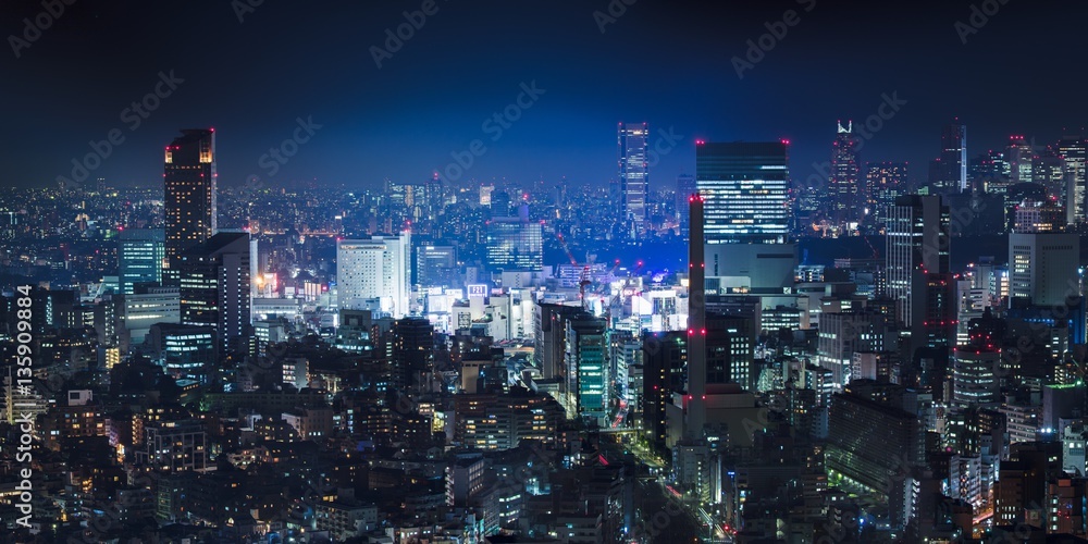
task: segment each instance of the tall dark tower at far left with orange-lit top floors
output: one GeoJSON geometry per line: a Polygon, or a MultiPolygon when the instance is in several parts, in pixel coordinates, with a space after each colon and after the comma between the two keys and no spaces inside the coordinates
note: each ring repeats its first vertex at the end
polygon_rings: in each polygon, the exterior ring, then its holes
{"type": "Polygon", "coordinates": [[[215,129],[184,129],[166,146],[163,211],[166,215],[165,283],[177,285],[174,270],[186,249],[215,234],[215,129]]]}

